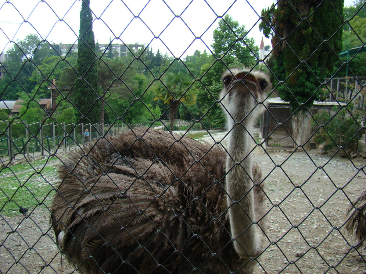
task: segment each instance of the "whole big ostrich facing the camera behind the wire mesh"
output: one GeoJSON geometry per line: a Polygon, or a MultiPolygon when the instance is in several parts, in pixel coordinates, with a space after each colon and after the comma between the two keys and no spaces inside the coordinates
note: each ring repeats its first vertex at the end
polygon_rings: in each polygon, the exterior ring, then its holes
{"type": "Polygon", "coordinates": [[[265,193],[250,132],[268,76],[222,76],[227,151],[135,128],[71,152],[51,205],[56,241],[83,273],[252,273],[265,193]]]}

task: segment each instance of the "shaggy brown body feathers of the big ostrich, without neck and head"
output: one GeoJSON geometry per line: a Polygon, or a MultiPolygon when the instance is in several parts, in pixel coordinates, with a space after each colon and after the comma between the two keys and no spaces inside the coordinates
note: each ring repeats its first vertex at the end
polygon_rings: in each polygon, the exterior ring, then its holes
{"type": "MultiPolygon", "coordinates": [[[[58,244],[82,271],[245,273],[229,233],[220,146],[138,128],[84,151],[59,168],[51,206],[58,244]]],[[[257,166],[253,174],[261,183],[257,166]]],[[[259,202],[263,186],[254,187],[259,202]]]]}

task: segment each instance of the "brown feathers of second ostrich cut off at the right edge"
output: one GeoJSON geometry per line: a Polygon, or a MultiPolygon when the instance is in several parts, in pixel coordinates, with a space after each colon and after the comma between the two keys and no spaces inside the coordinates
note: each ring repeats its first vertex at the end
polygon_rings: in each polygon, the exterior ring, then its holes
{"type": "Polygon", "coordinates": [[[365,245],[366,239],[366,190],[359,195],[348,207],[346,216],[346,229],[350,235],[355,234],[355,239],[359,242],[356,248],[365,245]]]}

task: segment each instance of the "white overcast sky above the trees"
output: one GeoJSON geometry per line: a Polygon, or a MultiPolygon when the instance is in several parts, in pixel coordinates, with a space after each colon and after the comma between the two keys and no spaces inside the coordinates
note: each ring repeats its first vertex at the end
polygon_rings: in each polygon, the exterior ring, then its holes
{"type": "MultiPolygon", "coordinates": [[[[273,0],[90,2],[94,35],[99,43],[112,39],[113,43],[150,44],[154,51],[160,49],[164,54],[170,50],[174,57],[185,57],[197,49],[208,50],[213,42],[212,32],[220,20],[217,16],[224,14],[245,25],[248,36],[259,45],[264,37],[258,29],[259,16],[262,8],[269,7],[273,0]]],[[[24,39],[30,33],[51,43],[77,43],[81,0],[0,0],[0,3],[0,52],[14,45],[10,41],[24,39]]],[[[344,1],[345,6],[352,4],[353,0],[344,1]]],[[[265,45],[270,45],[269,39],[265,39],[265,45]]]]}

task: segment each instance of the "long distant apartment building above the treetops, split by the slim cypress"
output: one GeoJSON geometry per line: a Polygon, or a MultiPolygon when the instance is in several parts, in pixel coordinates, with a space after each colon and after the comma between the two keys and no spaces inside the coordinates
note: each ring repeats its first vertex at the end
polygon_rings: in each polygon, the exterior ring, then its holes
{"type": "MultiPolygon", "coordinates": [[[[113,53],[116,56],[127,56],[127,53],[137,52],[137,50],[141,49],[143,45],[135,44],[97,44],[101,52],[108,53],[109,49],[112,47],[113,53]],[[128,48],[127,48],[128,47],[128,48]]],[[[60,53],[61,56],[66,56],[68,52],[78,52],[78,44],[53,44],[52,45],[57,52],[60,53]]]]}

